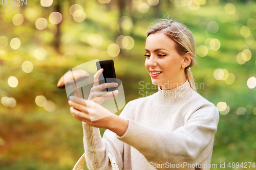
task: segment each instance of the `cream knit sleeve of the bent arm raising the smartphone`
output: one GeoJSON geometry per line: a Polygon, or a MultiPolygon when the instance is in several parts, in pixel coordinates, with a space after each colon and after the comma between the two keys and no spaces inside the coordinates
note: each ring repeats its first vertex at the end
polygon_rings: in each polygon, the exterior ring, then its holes
{"type": "MultiPolygon", "coordinates": [[[[127,105],[126,105],[127,106],[127,105]]],[[[119,115],[125,118],[129,107],[124,107],[119,115]]],[[[101,138],[99,128],[92,127],[84,122],[83,145],[86,163],[89,169],[112,169],[108,153],[116,160],[118,167],[123,167],[124,143],[116,137],[116,133],[106,130],[101,138]]]]}

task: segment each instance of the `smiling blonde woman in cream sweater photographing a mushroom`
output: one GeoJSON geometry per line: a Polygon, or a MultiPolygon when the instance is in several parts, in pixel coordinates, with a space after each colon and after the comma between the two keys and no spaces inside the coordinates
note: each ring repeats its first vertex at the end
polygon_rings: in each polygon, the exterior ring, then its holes
{"type": "Polygon", "coordinates": [[[98,104],[112,97],[100,92],[106,85],[97,83],[99,70],[89,101],[69,101],[71,114],[83,121],[87,165],[111,169],[109,152],[124,170],[209,169],[219,112],[196,92],[190,71],[194,37],[173,19],[160,20],[146,34],[145,67],[158,92],[127,103],[119,116],[111,114],[98,104]],[[110,116],[91,122],[88,110],[91,118],[110,116]],[[107,129],[103,138],[99,128],[107,129]]]}

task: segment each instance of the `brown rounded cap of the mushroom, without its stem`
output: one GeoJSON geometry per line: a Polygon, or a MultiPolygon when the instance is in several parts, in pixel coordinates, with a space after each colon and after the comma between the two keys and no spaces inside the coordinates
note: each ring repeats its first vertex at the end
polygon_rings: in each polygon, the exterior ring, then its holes
{"type": "Polygon", "coordinates": [[[57,83],[58,88],[65,88],[65,86],[68,86],[74,81],[79,82],[82,80],[85,80],[89,77],[89,73],[86,70],[78,69],[74,71],[68,71],[65,75],[61,76],[57,83]],[[64,79],[65,78],[65,79],[64,79]]]}

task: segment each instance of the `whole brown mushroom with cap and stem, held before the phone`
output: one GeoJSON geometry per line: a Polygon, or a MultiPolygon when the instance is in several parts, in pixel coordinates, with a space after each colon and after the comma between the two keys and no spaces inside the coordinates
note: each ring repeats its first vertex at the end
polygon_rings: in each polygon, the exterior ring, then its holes
{"type": "Polygon", "coordinates": [[[82,70],[82,69],[68,71],[66,72],[65,75],[61,76],[61,78],[57,83],[57,87],[65,88],[69,85],[73,85],[74,88],[76,89],[74,95],[78,97],[82,97],[76,82],[86,80],[89,76],[90,76],[89,73],[86,70],[82,70]]]}

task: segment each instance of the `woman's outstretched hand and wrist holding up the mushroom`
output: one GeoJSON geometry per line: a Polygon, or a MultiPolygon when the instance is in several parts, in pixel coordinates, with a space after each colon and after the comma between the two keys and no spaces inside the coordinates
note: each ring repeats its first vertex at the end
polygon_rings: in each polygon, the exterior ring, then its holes
{"type": "Polygon", "coordinates": [[[72,116],[90,126],[109,129],[119,136],[122,136],[128,127],[128,120],[111,113],[93,101],[71,96],[69,105],[72,116]]]}

